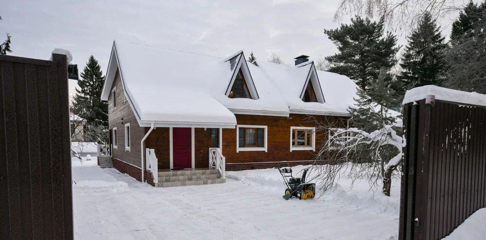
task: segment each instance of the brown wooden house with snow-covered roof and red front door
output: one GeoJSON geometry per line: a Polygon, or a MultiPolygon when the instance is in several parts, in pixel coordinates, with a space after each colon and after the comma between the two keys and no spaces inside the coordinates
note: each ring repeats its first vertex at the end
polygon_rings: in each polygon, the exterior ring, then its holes
{"type": "Polygon", "coordinates": [[[346,127],[355,96],[349,78],[316,70],[305,55],[295,66],[250,64],[243,51],[221,59],[123,41],[113,44],[102,92],[113,165],[157,187],[310,164],[328,135],[310,118],[346,127]]]}

